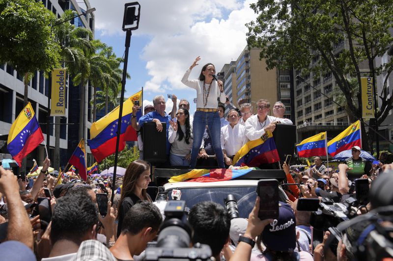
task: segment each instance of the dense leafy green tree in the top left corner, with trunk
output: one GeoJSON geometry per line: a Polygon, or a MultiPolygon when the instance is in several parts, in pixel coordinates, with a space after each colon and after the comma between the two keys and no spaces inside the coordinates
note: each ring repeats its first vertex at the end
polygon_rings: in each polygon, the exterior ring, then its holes
{"type": "Polygon", "coordinates": [[[55,18],[42,2],[0,0],[0,63],[24,75],[25,105],[31,74],[49,72],[58,65],[59,45],[51,31],[55,18]]]}

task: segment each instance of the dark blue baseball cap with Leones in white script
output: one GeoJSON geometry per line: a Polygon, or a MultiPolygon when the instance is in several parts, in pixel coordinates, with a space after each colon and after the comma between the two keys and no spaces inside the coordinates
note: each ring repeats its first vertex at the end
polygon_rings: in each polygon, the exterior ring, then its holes
{"type": "Polygon", "coordinates": [[[270,250],[290,251],[296,247],[296,218],[290,205],[279,203],[279,218],[265,227],[262,241],[270,250]]]}

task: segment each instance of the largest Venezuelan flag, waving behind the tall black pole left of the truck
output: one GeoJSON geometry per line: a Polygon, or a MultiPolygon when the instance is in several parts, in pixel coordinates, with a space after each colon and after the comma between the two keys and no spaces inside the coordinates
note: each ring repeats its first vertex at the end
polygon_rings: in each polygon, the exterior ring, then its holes
{"type": "MultiPolygon", "coordinates": [[[[137,100],[142,104],[142,91],[132,95],[123,103],[119,151],[124,149],[126,141],[137,141],[137,132],[131,126],[132,107],[137,100]]],[[[91,124],[90,140],[87,140],[87,144],[97,162],[101,162],[115,152],[119,109],[120,106],[117,106],[112,112],[91,124]]],[[[141,110],[137,114],[137,121],[140,117],[141,110]]]]}

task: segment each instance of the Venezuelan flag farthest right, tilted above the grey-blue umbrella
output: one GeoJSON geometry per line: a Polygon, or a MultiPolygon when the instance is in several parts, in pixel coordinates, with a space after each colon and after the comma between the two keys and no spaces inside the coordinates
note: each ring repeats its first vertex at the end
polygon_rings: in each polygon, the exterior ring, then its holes
{"type": "Polygon", "coordinates": [[[357,120],[328,142],[328,152],[334,157],[343,150],[351,149],[353,146],[362,147],[362,130],[360,120],[357,120]]]}

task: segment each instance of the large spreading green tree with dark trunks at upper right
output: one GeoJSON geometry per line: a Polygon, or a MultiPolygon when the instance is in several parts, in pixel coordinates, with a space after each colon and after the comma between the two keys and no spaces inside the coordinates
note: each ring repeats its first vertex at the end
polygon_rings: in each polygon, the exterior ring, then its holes
{"type": "MultiPolygon", "coordinates": [[[[262,48],[260,58],[266,59],[268,69],[307,69],[315,58],[316,66],[311,68],[314,75],[332,72],[349,115],[360,119],[362,69],[366,67],[363,71],[375,71],[376,75],[384,73],[386,79],[393,70],[393,59],[378,67],[374,63],[393,42],[389,31],[392,1],[258,0],[251,7],[258,17],[247,24],[247,41],[251,47],[262,48]],[[339,44],[345,48],[338,50],[339,44]],[[357,90],[350,78],[357,79],[357,90]]],[[[393,107],[387,81],[381,87],[378,124],[393,107]]]]}

